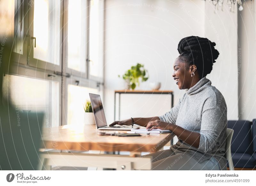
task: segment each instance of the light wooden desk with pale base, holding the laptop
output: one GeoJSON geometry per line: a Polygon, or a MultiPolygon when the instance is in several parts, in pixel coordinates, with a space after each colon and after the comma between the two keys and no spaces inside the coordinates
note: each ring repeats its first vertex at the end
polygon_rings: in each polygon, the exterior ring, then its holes
{"type": "MultiPolygon", "coordinates": [[[[142,136],[118,137],[100,136],[95,125],[65,125],[44,128],[42,133],[43,149],[67,150],[69,152],[41,151],[39,169],[51,166],[116,168],[117,170],[150,170],[151,158],[136,157],[140,152],[160,150],[175,135],[151,134],[142,136]],[[130,151],[131,155],[85,154],[82,151],[130,151]],[[72,151],[81,151],[72,153],[72,151]]],[[[120,131],[121,132],[121,131],[120,131]]],[[[122,131],[124,132],[124,131],[122,131]]]]}

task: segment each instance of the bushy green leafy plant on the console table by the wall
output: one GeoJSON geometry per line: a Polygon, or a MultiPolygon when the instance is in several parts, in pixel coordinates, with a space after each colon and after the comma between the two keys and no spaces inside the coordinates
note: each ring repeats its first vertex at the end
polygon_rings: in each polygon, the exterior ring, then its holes
{"type": "Polygon", "coordinates": [[[134,90],[136,86],[140,86],[140,79],[142,82],[148,80],[148,71],[144,68],[144,65],[137,63],[136,66],[128,69],[122,77],[125,80],[125,89],[132,88],[134,90]]]}

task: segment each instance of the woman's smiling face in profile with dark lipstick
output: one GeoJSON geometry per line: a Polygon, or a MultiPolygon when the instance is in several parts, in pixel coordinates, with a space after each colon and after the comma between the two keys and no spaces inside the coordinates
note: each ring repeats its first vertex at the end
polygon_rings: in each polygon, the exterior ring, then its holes
{"type": "Polygon", "coordinates": [[[179,89],[189,89],[193,78],[191,78],[190,69],[187,67],[188,64],[180,61],[179,58],[174,61],[172,77],[179,89]]]}

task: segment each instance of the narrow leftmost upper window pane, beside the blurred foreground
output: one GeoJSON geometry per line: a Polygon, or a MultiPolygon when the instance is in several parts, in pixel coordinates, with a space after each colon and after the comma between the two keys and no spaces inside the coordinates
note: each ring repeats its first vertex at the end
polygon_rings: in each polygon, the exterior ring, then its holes
{"type": "Polygon", "coordinates": [[[20,0],[15,1],[14,11],[14,47],[13,52],[23,54],[23,4],[20,0]]]}

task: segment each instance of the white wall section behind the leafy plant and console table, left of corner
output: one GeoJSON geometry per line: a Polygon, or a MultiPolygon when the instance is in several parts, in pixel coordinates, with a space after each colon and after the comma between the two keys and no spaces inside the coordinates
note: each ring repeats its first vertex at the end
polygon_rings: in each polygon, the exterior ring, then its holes
{"type": "MultiPolygon", "coordinates": [[[[202,0],[106,0],[104,105],[108,123],[114,120],[114,90],[124,89],[124,80],[117,76],[137,62],[145,65],[150,76],[138,89],[150,89],[148,83],[158,81],[161,89],[174,91],[175,102],[179,100],[184,90],[172,78],[172,65],[181,38],[204,36],[204,4],[202,0]]],[[[166,96],[123,97],[121,119],[163,114],[170,110],[169,101],[166,96]],[[129,105],[124,106],[125,101],[129,105]]]]}

